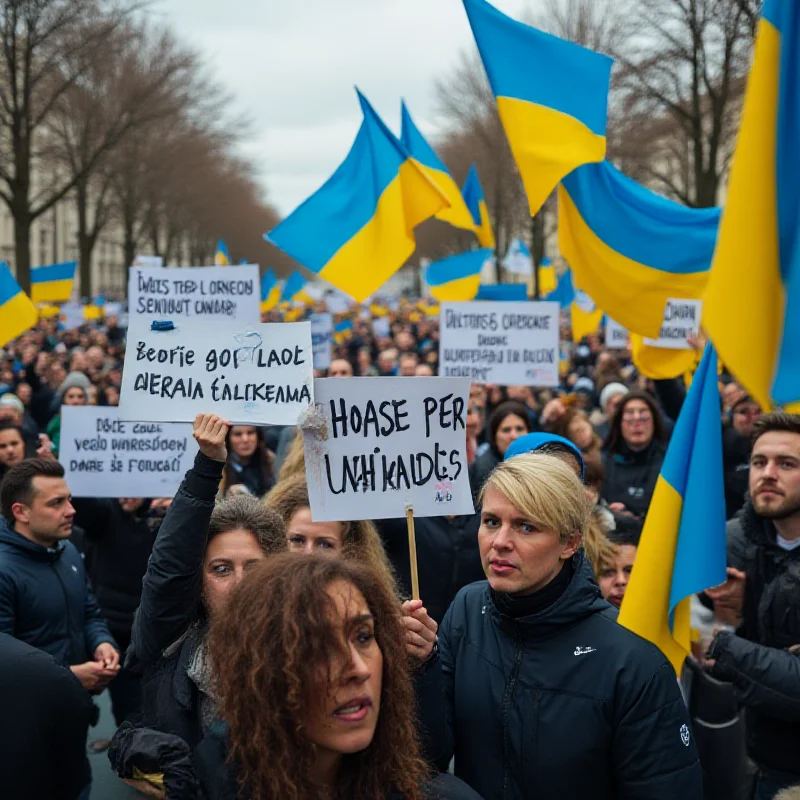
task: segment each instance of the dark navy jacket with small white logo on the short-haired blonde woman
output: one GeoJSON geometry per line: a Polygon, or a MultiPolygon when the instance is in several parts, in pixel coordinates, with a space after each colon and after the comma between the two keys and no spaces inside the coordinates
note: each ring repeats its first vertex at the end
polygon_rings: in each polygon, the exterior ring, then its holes
{"type": "Polygon", "coordinates": [[[454,754],[492,800],[701,800],[675,672],[617,624],[583,556],[573,564],[564,594],[518,620],[487,582],[459,592],[439,629],[441,704],[420,709],[437,763],[454,754]]]}

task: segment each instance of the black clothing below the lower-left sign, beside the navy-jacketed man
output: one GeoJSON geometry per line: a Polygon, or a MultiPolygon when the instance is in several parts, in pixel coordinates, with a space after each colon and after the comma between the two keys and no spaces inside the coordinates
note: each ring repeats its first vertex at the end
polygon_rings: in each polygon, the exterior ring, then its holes
{"type": "Polygon", "coordinates": [[[117,500],[73,498],[72,505],[90,549],[87,567],[97,602],[111,632],[127,638],[162,518],[149,513],[147,500],[133,514],[117,500]]]}

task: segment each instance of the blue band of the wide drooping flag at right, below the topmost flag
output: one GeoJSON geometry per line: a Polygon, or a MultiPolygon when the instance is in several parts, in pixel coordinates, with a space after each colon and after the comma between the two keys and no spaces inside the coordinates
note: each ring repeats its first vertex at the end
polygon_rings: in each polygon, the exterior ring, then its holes
{"type": "Polygon", "coordinates": [[[719,208],[667,200],[608,161],[578,167],[563,185],[586,224],[620,255],[676,275],[711,268],[719,208]]]}

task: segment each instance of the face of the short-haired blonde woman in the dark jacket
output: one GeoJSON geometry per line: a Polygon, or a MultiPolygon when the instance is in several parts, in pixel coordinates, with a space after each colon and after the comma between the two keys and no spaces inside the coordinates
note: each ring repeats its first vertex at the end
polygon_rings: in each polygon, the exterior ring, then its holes
{"type": "Polygon", "coordinates": [[[560,542],[558,533],[542,530],[494,486],[487,487],[478,546],[483,570],[496,592],[528,595],[547,586],[579,544],[579,534],[560,542]]]}

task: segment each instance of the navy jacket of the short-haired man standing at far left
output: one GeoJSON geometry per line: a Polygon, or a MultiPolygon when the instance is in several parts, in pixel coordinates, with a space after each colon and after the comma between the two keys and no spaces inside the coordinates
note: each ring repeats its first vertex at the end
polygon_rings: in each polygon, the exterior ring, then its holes
{"type": "Polygon", "coordinates": [[[0,633],[44,650],[67,666],[116,647],[71,542],[43,547],[0,520],[0,633]]]}

